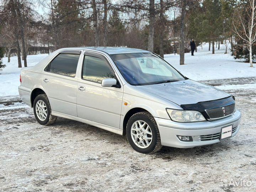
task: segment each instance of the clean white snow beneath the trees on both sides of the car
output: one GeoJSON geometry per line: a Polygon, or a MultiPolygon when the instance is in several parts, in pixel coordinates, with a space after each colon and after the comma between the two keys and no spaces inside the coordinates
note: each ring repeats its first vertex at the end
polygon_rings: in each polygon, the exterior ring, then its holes
{"type": "MultiPolygon", "coordinates": [[[[179,65],[180,56],[177,54],[167,54],[165,59],[183,75],[197,81],[256,76],[256,68],[249,67],[249,63],[233,59],[230,54],[224,54],[224,45],[220,48],[212,54],[212,51],[208,51],[206,43],[203,49],[198,47],[198,52],[194,53],[195,56],[191,56],[191,53],[185,54],[185,65],[179,65]]],[[[47,57],[47,54],[28,55],[28,66],[37,64],[44,57],[47,57]]],[[[11,57],[10,63],[7,63],[7,57],[5,57],[3,63],[6,67],[0,71],[0,96],[18,95],[20,68],[18,68],[17,57],[11,57]]]]}

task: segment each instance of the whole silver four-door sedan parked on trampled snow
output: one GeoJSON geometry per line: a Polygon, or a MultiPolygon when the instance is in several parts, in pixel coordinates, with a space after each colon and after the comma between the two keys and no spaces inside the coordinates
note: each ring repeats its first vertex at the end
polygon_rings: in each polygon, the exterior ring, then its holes
{"type": "Polygon", "coordinates": [[[234,96],[141,49],[59,49],[22,69],[18,90],[38,123],[63,117],[126,134],[140,153],[213,144],[239,131],[234,96]]]}

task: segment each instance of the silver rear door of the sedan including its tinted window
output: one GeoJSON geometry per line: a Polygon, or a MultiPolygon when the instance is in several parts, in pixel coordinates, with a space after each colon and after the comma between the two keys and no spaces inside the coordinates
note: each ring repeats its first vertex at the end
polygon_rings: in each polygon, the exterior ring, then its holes
{"type": "Polygon", "coordinates": [[[64,50],[46,66],[42,85],[47,92],[53,111],[77,117],[77,68],[80,50],[64,50]]]}

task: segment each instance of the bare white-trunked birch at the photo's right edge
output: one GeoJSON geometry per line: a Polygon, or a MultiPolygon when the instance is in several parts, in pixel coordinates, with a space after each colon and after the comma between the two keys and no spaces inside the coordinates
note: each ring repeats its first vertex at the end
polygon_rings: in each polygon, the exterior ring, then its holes
{"type": "Polygon", "coordinates": [[[241,38],[245,44],[240,46],[246,46],[249,49],[250,66],[252,64],[252,45],[256,42],[256,5],[255,0],[248,0],[247,4],[243,4],[242,9],[236,11],[236,16],[233,17],[234,32],[241,38]],[[239,20],[239,22],[237,22],[239,20]]]}

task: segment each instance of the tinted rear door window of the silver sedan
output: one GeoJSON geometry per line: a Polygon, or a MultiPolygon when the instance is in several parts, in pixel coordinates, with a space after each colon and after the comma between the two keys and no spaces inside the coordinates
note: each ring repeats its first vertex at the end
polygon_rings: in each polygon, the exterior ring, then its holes
{"type": "Polygon", "coordinates": [[[61,53],[52,60],[45,70],[60,75],[75,77],[79,57],[80,55],[78,54],[61,53]]]}

